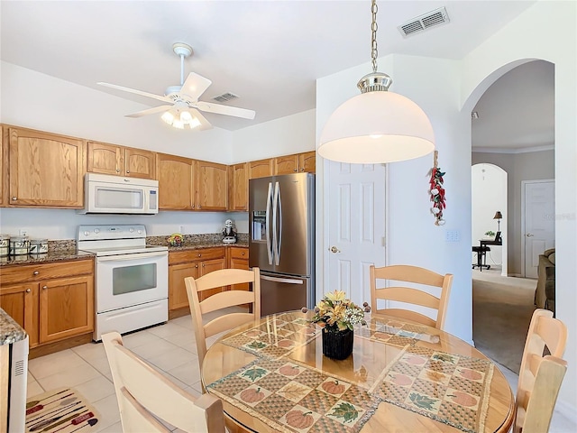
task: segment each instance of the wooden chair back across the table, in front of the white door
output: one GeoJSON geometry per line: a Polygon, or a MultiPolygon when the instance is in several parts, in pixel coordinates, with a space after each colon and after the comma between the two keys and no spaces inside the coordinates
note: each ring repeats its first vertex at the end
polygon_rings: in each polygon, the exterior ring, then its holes
{"type": "Polygon", "coordinates": [[[393,265],[376,268],[371,265],[371,311],[373,313],[387,314],[397,318],[405,318],[411,321],[422,323],[429,327],[443,329],[446,316],[449,294],[453,284],[453,274],[429,271],[425,268],[410,265],[393,265]],[[389,287],[377,287],[377,280],[402,281],[404,283],[422,284],[438,288],[439,296],[428,293],[425,290],[415,287],[391,285],[389,287]],[[378,299],[385,299],[407,304],[436,309],[436,318],[430,318],[425,314],[411,309],[385,308],[378,309],[378,299]]]}

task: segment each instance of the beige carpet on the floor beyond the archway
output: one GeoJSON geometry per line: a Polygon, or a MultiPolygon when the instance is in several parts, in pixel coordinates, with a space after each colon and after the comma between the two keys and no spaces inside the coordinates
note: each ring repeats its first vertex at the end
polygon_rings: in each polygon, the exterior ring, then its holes
{"type": "Polygon", "coordinates": [[[527,330],[535,310],[536,280],[501,277],[500,270],[472,272],[472,337],[475,346],[519,373],[527,330]]]}

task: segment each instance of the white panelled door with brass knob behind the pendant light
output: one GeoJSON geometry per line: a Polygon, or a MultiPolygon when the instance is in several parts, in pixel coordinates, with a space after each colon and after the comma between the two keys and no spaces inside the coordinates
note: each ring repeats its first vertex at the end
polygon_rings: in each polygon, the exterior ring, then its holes
{"type": "MultiPolygon", "coordinates": [[[[324,291],[370,301],[369,266],[385,264],[383,164],[328,163],[328,268],[324,291]]],[[[325,232],[326,233],[326,232],[325,232]]]]}

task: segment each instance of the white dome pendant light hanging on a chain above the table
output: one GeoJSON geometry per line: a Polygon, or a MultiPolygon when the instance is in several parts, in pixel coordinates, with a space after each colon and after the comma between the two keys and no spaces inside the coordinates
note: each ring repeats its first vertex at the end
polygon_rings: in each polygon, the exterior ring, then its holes
{"type": "Polygon", "coordinates": [[[435,150],[433,126],[425,112],[408,97],[389,92],[392,79],[377,71],[377,2],[371,3],[372,73],[352,97],[329,117],[318,153],[340,162],[406,161],[435,150]]]}

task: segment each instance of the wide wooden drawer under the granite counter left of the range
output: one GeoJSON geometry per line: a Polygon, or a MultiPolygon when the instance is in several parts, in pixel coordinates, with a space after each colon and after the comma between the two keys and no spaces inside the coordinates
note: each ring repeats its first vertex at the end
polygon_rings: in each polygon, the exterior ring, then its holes
{"type": "Polygon", "coordinates": [[[0,268],[0,283],[12,284],[26,281],[42,281],[50,278],[84,275],[94,272],[94,260],[79,260],[59,263],[3,266],[0,268]]]}

